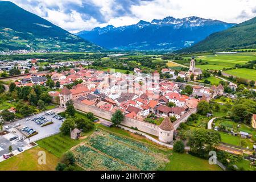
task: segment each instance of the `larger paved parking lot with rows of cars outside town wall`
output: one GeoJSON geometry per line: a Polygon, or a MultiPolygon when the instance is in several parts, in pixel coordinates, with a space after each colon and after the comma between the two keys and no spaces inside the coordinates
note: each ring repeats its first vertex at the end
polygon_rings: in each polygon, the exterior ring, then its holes
{"type": "MultiPolygon", "coordinates": [[[[55,109],[52,109],[52,111],[55,112],[55,114],[57,113],[61,113],[62,111],[64,111],[63,108],[55,108],[55,109]]],[[[30,142],[34,142],[36,140],[39,140],[39,139],[42,139],[42,138],[45,138],[45,137],[48,137],[50,135],[53,135],[53,134],[56,134],[56,133],[59,133],[59,128],[62,124],[62,120],[59,120],[59,119],[56,119],[56,118],[53,118],[53,116],[55,114],[52,114],[52,115],[46,115],[44,112],[43,113],[39,113],[39,114],[36,114],[36,115],[33,115],[31,117],[27,117],[27,118],[23,118],[23,119],[20,119],[18,121],[15,121],[13,123],[11,123],[10,126],[12,126],[13,128],[16,127],[17,123],[19,123],[20,126],[19,129],[23,129],[23,127],[29,127],[30,129],[33,129],[35,130],[36,132],[38,132],[38,134],[26,139],[25,141],[30,143],[30,142]],[[47,126],[40,126],[38,125],[35,121],[32,121],[33,118],[39,118],[43,116],[45,119],[47,119],[48,121],[52,121],[53,123],[51,125],[47,125],[47,126]],[[28,120],[28,118],[30,118],[28,120]]],[[[12,130],[12,129],[9,129],[9,130],[12,130]]],[[[25,131],[23,131],[23,134],[26,134],[25,131]]],[[[29,135],[27,133],[27,135],[29,135]]]]}

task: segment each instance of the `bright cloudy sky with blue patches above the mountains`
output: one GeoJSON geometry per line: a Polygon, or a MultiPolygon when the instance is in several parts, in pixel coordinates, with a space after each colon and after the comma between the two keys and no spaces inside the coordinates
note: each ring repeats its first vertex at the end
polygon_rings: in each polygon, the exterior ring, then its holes
{"type": "Polygon", "coordinates": [[[10,0],[68,30],[151,22],[166,16],[200,16],[240,23],[256,16],[256,0],[10,0]]]}

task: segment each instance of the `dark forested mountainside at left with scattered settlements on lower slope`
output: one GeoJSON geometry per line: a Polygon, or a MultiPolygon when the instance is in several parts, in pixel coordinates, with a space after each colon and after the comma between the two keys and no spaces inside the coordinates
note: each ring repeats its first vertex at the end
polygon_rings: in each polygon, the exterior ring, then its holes
{"type": "Polygon", "coordinates": [[[102,51],[46,19],[12,2],[0,1],[0,51],[34,49],[47,51],[102,51]]]}

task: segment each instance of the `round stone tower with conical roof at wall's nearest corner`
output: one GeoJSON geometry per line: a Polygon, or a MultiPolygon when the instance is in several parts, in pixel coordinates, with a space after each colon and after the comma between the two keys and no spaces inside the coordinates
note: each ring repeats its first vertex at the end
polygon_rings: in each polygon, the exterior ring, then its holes
{"type": "Polygon", "coordinates": [[[158,139],[164,143],[170,143],[174,140],[174,126],[169,117],[164,118],[159,126],[158,139]]]}

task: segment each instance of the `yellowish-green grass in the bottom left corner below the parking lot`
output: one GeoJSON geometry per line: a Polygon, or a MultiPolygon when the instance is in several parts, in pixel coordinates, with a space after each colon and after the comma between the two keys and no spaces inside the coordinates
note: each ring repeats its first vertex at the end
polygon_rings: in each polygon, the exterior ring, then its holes
{"type": "Polygon", "coordinates": [[[34,147],[0,163],[0,171],[53,171],[59,161],[41,147],[34,147]],[[38,164],[38,152],[46,152],[46,164],[38,164]]]}

